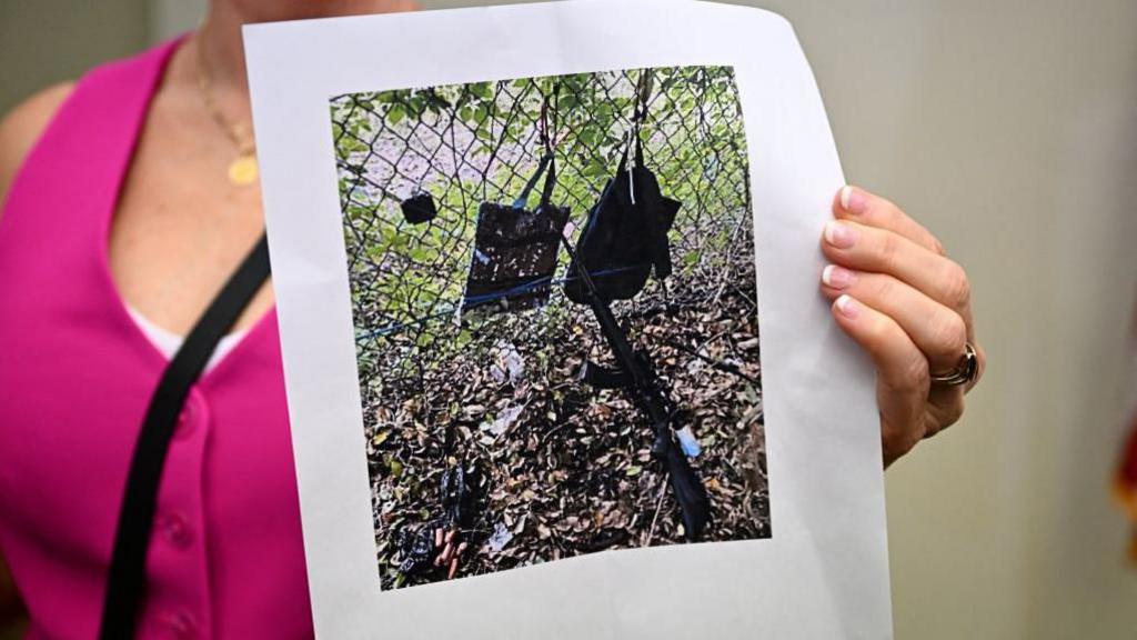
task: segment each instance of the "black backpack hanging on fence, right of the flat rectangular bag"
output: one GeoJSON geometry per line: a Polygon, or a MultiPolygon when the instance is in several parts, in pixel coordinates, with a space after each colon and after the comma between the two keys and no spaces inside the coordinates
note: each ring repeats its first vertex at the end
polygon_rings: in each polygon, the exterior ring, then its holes
{"type": "MultiPolygon", "coordinates": [[[[576,260],[583,262],[605,302],[636,297],[653,269],[659,280],[671,274],[667,232],[682,204],[665,197],[655,174],[644,166],[640,123],[647,114],[647,100],[642,89],[640,100],[632,118],[633,140],[624,148],[615,177],[605,186],[576,243],[576,260]],[[629,169],[628,156],[633,146],[636,154],[629,169]]],[[[576,273],[575,262],[568,273],[576,273]]],[[[566,279],[568,300],[587,304],[587,294],[579,278],[566,279]]]]}

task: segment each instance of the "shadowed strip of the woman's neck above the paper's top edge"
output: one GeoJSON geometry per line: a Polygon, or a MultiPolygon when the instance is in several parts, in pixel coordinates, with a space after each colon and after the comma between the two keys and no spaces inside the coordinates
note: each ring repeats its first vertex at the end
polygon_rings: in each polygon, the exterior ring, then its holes
{"type": "Polygon", "coordinates": [[[417,8],[414,0],[214,0],[194,44],[201,48],[198,60],[207,67],[216,91],[247,99],[242,25],[417,8]]]}

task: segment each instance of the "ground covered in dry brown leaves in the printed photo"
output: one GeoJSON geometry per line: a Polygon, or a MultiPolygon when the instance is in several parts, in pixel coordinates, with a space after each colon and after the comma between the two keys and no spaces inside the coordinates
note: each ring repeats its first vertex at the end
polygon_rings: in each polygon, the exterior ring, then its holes
{"type": "MultiPolygon", "coordinates": [[[[753,254],[732,260],[713,292],[677,273],[666,298],[653,284],[616,307],[702,442],[692,465],[712,502],[706,541],[771,534],[753,254]]],[[[553,295],[540,311],[439,322],[413,375],[363,380],[384,589],[447,577],[448,567],[399,566],[408,540],[443,525],[441,478],[456,467],[474,498],[458,577],[683,542],[641,413],[623,392],[579,381],[586,358],[613,364],[595,320],[553,295]]]]}

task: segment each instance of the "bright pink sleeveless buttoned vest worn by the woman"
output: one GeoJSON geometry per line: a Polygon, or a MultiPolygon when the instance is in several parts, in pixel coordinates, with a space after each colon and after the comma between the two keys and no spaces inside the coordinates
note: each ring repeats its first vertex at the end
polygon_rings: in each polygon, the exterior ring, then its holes
{"type": "MultiPolygon", "coordinates": [[[[176,43],[84,77],[0,218],[0,557],[30,638],[94,638],[126,471],[166,359],[108,230],[176,43]]],[[[148,551],[141,638],[312,635],[276,317],[193,387],[148,551]]]]}

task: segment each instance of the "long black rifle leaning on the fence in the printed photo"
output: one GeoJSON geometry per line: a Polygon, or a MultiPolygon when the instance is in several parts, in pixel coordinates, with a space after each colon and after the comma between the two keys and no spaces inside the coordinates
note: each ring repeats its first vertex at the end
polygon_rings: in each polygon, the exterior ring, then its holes
{"type": "Polygon", "coordinates": [[[632,402],[640,408],[652,422],[655,433],[655,442],[652,446],[652,456],[664,463],[670,476],[671,490],[679,501],[680,515],[683,519],[683,534],[688,542],[697,542],[711,518],[711,502],[707,499],[706,487],[699,479],[695,469],[687,461],[687,456],[675,443],[672,433],[672,412],[669,409],[670,402],[663,393],[658,379],[639,355],[636,354],[632,345],[628,342],[628,336],[616,322],[612,314],[612,309],[600,297],[592,277],[582,261],[576,260],[576,252],[565,235],[561,233],[561,243],[568,257],[576,265],[576,274],[584,284],[586,297],[592,313],[600,323],[600,333],[612,348],[620,366],[625,384],[623,386],[632,396],[632,402]]]}

